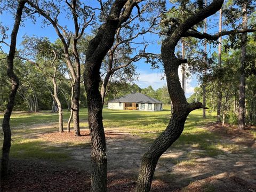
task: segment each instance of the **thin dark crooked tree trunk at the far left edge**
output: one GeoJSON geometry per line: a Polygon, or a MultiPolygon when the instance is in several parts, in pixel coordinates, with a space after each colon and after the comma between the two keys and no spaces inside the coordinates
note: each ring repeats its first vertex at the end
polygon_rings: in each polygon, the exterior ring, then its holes
{"type": "Polygon", "coordinates": [[[17,34],[20,26],[21,15],[23,8],[27,1],[19,1],[17,12],[15,16],[15,22],[11,34],[11,45],[9,55],[7,56],[7,75],[11,79],[12,88],[11,93],[9,95],[9,101],[7,103],[7,108],[4,114],[3,119],[3,132],[4,132],[4,142],[2,148],[2,158],[1,158],[1,177],[6,177],[8,173],[8,163],[9,163],[9,154],[10,154],[10,147],[11,147],[11,129],[10,129],[10,117],[12,114],[12,109],[14,106],[15,95],[19,88],[19,79],[13,72],[13,59],[15,54],[15,47],[16,47],[16,39],[17,34]]]}

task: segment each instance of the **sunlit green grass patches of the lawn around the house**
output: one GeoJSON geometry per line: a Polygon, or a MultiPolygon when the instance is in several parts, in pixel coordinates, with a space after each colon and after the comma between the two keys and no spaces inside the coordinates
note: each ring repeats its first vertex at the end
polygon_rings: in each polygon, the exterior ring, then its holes
{"type": "MultiPolygon", "coordinates": [[[[105,127],[119,127],[125,129],[131,134],[138,135],[145,142],[153,142],[161,134],[170,121],[170,109],[164,107],[163,111],[136,111],[136,110],[111,110],[103,109],[103,124],[105,127]]],[[[64,123],[67,122],[69,112],[63,113],[64,123]]],[[[3,114],[0,115],[2,123],[3,114]]],[[[81,127],[87,129],[87,109],[80,111],[81,127]]],[[[180,138],[172,145],[176,149],[198,149],[199,152],[189,152],[186,155],[187,161],[196,157],[210,156],[214,157],[223,153],[225,143],[218,142],[217,135],[202,129],[202,126],[209,122],[214,122],[215,116],[207,115],[202,118],[202,110],[192,111],[185,123],[185,128],[180,138]]],[[[19,158],[42,158],[55,161],[65,161],[69,158],[67,153],[60,153],[61,148],[50,147],[50,143],[44,143],[36,139],[27,139],[28,135],[35,133],[58,131],[58,113],[42,111],[39,113],[13,113],[11,117],[12,127],[12,149],[11,156],[19,158]],[[47,128],[29,129],[31,125],[56,124],[56,126],[47,128]]],[[[90,143],[62,143],[63,147],[88,147],[90,143]]],[[[227,148],[227,146],[226,146],[227,148]]],[[[183,161],[174,159],[174,161],[183,161]]]]}

